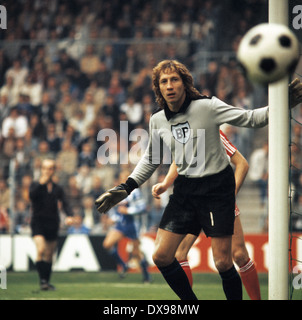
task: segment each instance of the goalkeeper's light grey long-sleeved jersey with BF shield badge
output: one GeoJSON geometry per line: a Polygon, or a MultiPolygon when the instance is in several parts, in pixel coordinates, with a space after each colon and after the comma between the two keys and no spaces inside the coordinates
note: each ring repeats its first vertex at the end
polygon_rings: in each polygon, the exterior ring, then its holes
{"type": "Polygon", "coordinates": [[[216,174],[229,164],[221,142],[219,127],[228,123],[259,128],[268,124],[268,107],[244,110],[216,97],[186,99],[177,113],[168,107],[154,113],[149,124],[147,149],[130,178],[138,186],[148,180],[157,167],[175,160],[179,175],[189,178],[216,174]]]}

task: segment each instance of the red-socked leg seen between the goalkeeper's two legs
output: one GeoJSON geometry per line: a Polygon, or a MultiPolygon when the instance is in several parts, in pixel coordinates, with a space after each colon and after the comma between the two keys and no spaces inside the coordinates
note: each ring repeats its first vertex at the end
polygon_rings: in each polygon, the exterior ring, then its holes
{"type": "Polygon", "coordinates": [[[187,234],[185,238],[181,241],[175,254],[175,258],[180,263],[181,267],[186,273],[191,287],[193,286],[193,276],[192,276],[192,271],[188,261],[188,253],[196,239],[197,239],[197,236],[193,234],[187,234]]]}

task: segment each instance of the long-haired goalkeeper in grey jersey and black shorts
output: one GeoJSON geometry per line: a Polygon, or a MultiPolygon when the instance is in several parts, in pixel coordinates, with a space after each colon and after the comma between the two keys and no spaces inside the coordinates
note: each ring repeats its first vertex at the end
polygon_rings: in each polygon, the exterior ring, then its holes
{"type": "MultiPolygon", "coordinates": [[[[186,234],[203,230],[211,237],[226,298],[241,300],[242,284],[231,250],[235,179],[219,127],[223,123],[263,127],[268,123],[268,107],[243,110],[202,96],[188,69],[175,60],[164,60],[153,69],[152,84],[160,108],[150,119],[146,152],[124,184],[96,199],[98,211],[107,212],[147,181],[159,167],[166,145],[178,178],[157,232],[154,263],[180,299],[197,300],[175,253],[186,234]]],[[[290,107],[301,101],[302,84],[297,80],[290,85],[290,107]]]]}

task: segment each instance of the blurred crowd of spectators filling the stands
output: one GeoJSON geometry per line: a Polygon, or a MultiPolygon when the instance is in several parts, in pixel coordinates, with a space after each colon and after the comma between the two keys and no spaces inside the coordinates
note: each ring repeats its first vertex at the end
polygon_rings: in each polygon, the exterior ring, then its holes
{"type": "MultiPolygon", "coordinates": [[[[242,108],[267,103],[265,91],[247,82],[232,55],[242,35],[265,20],[264,0],[20,0],[3,5],[8,25],[0,31],[0,233],[28,232],[29,185],[48,157],[56,159],[58,182],[89,232],[106,231],[94,199],[132,164],[102,164],[97,152],[105,141],[97,136],[110,128],[120,137],[120,121],[128,121],[129,132],[148,130],[156,108],[151,73],[162,59],[188,65],[204,94],[242,108]],[[202,51],[220,54],[200,71],[202,51]]],[[[252,132],[225,130],[248,157],[252,132]]],[[[113,147],[117,154],[110,156],[118,157],[123,147],[118,143],[113,147]]],[[[165,170],[149,184],[162,179],[165,170]]],[[[145,229],[153,230],[166,198],[152,199],[150,185],[143,192],[145,229]]]]}

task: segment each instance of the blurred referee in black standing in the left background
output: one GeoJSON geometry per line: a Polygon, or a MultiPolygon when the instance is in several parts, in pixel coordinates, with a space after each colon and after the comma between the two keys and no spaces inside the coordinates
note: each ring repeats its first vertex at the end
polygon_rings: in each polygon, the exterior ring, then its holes
{"type": "Polygon", "coordinates": [[[36,268],[40,278],[41,290],[54,290],[49,283],[53,254],[57,246],[60,218],[58,203],[62,203],[67,214],[65,223],[73,221],[72,211],[66,201],[62,187],[54,183],[55,161],[42,161],[41,175],[37,182],[30,186],[30,200],[32,203],[31,229],[37,248],[36,268]]]}

